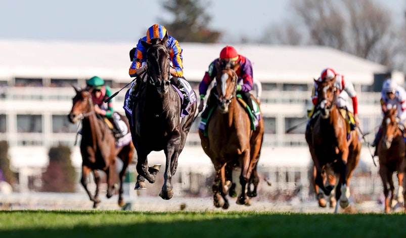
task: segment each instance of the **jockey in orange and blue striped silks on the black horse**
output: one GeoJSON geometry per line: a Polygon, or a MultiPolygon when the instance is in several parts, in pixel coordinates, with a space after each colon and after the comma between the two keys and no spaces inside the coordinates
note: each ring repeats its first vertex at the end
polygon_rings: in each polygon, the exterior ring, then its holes
{"type": "MultiPolygon", "coordinates": [[[[188,92],[186,92],[184,85],[182,84],[181,80],[179,80],[179,77],[183,77],[185,80],[186,78],[183,76],[183,56],[182,56],[182,48],[179,47],[179,43],[177,40],[168,35],[168,32],[166,28],[162,25],[155,24],[148,28],[147,30],[147,35],[141,38],[138,41],[137,47],[132,48],[130,50],[130,60],[132,61],[131,66],[129,68],[129,75],[130,77],[137,77],[141,76],[144,72],[147,71],[147,50],[144,48],[144,46],[141,44],[142,41],[151,43],[152,38],[160,38],[161,40],[165,37],[165,35],[168,36],[168,41],[166,43],[166,46],[169,48],[169,60],[171,63],[171,67],[169,68],[169,72],[172,75],[171,77],[171,82],[173,85],[175,85],[179,91],[182,92],[184,95],[184,103],[183,106],[184,108],[187,108],[187,106],[190,103],[189,95],[188,92]]],[[[137,94],[139,90],[139,85],[140,82],[135,82],[132,85],[132,90],[131,90],[131,96],[132,98],[137,94]]]]}

